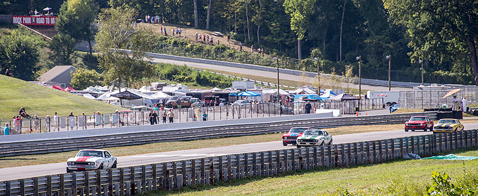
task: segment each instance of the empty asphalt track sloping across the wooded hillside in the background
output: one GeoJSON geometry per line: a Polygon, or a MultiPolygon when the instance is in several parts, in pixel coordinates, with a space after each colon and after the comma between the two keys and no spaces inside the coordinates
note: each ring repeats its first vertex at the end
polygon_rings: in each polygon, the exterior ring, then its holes
{"type": "MultiPolygon", "coordinates": [[[[186,61],[176,61],[176,60],[167,60],[162,58],[152,58],[152,62],[155,63],[170,63],[175,65],[186,65],[189,67],[200,68],[200,69],[212,69],[212,70],[223,70],[228,72],[240,73],[240,74],[249,74],[249,75],[256,75],[262,77],[271,77],[273,79],[277,78],[277,72],[270,72],[270,71],[260,71],[260,70],[252,70],[252,69],[244,69],[244,68],[235,68],[235,67],[227,67],[227,66],[219,66],[219,65],[211,65],[211,64],[204,64],[204,63],[193,63],[193,62],[186,62],[186,61]]],[[[290,81],[301,81],[301,76],[297,75],[290,75],[279,73],[279,79],[282,80],[290,80],[290,81]]],[[[307,77],[307,82],[314,83],[315,79],[311,77],[307,77]]],[[[324,85],[327,85],[327,82],[322,82],[324,85]]],[[[346,86],[346,83],[342,84],[342,86],[346,86]]],[[[358,89],[357,84],[350,84],[351,88],[358,89]]],[[[362,94],[365,93],[366,90],[379,90],[379,91],[388,91],[388,86],[372,86],[372,85],[361,85],[362,94]]],[[[392,87],[391,90],[410,90],[409,88],[401,88],[401,87],[392,87]]]]}

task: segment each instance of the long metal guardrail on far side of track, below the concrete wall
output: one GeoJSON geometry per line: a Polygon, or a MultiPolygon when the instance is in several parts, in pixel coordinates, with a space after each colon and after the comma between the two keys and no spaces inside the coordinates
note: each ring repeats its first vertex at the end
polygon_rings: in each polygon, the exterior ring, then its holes
{"type": "Polygon", "coordinates": [[[242,136],[264,133],[276,133],[291,127],[307,126],[311,128],[332,128],[351,125],[403,123],[411,115],[426,115],[436,119],[436,111],[420,113],[401,113],[387,115],[370,115],[359,117],[335,117],[325,119],[290,120],[270,123],[220,125],[189,129],[171,129],[159,131],[138,131],[134,133],[82,136],[78,138],[35,140],[0,143],[0,157],[25,154],[39,154],[79,150],[84,148],[105,148],[148,144],[156,142],[187,141],[217,138],[222,136],[242,136]]]}

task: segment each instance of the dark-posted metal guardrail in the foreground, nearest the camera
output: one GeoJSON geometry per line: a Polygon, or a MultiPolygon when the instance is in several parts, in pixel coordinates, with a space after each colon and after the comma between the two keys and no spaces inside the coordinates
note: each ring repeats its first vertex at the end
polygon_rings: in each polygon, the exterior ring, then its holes
{"type": "Polygon", "coordinates": [[[379,141],[229,154],[125,168],[62,173],[0,183],[0,195],[133,195],[196,184],[267,177],[296,170],[346,167],[422,157],[478,146],[478,131],[459,131],[379,141]]]}

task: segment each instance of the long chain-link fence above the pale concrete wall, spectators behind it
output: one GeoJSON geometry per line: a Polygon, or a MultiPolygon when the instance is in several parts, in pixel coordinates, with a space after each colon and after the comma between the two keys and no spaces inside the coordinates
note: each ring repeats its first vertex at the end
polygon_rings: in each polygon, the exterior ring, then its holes
{"type": "MultiPolygon", "coordinates": [[[[312,109],[340,109],[344,114],[355,113],[356,107],[360,110],[379,109],[383,105],[383,99],[361,100],[351,102],[311,102],[312,109]]],[[[210,106],[200,108],[177,108],[173,109],[173,123],[197,122],[202,121],[202,114],[207,114],[208,121],[232,120],[232,119],[252,119],[270,116],[296,115],[305,113],[305,103],[260,103],[247,105],[226,105],[226,106],[210,106]]],[[[45,133],[53,131],[70,131],[82,129],[96,128],[112,128],[123,126],[139,126],[162,124],[161,115],[168,113],[166,110],[158,110],[158,118],[154,123],[150,118],[150,111],[132,111],[105,113],[94,115],[76,115],[76,116],[60,116],[55,121],[53,116],[49,118],[39,117],[25,118],[19,121],[13,119],[0,119],[0,135],[4,134],[5,124],[10,127],[10,134],[26,134],[26,133],[45,133]]],[[[311,113],[313,110],[311,111],[311,113]]],[[[167,123],[170,123],[167,117],[167,123]]],[[[1,141],[1,139],[0,139],[1,141]]]]}

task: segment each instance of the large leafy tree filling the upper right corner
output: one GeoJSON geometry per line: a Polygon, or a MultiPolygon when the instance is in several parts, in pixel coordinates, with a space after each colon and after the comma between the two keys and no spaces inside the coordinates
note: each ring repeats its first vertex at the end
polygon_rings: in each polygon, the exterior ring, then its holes
{"type": "Polygon", "coordinates": [[[460,0],[427,1],[385,0],[396,24],[405,26],[410,38],[412,59],[437,63],[452,56],[470,58],[474,83],[478,85],[478,6],[460,0]]]}

